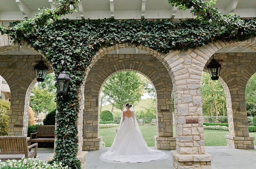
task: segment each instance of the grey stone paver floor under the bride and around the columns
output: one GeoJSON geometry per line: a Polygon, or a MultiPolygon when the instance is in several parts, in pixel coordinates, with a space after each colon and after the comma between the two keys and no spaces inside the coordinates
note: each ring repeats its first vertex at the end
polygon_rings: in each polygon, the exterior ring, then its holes
{"type": "MultiPolygon", "coordinates": [[[[150,147],[155,149],[155,147],[150,147]]],[[[255,147],[256,148],[256,147],[255,147]]],[[[86,169],[172,169],[171,151],[161,150],[170,155],[168,159],[147,163],[108,163],[101,161],[101,153],[109,147],[102,147],[97,151],[89,151],[86,157],[86,169]]],[[[256,169],[256,149],[232,149],[227,146],[206,146],[206,153],[212,154],[212,169],[256,169]]],[[[38,148],[38,156],[45,160],[52,155],[51,148],[38,148]]]]}

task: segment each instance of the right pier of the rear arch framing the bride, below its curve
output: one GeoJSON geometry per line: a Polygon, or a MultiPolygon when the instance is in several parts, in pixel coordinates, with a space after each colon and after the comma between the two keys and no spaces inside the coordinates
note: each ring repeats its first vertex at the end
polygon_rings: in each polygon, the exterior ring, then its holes
{"type": "Polygon", "coordinates": [[[157,149],[176,149],[176,137],[173,136],[172,127],[171,95],[172,93],[170,92],[168,96],[165,96],[166,98],[160,99],[157,97],[157,136],[155,136],[155,147],[157,149]]]}

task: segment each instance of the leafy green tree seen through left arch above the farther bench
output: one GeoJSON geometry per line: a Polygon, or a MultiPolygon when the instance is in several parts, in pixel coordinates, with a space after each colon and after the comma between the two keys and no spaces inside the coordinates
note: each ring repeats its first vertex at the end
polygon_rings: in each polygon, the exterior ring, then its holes
{"type": "Polygon", "coordinates": [[[30,97],[30,107],[38,113],[48,113],[56,108],[54,102],[54,94],[50,93],[48,89],[42,89],[39,86],[34,87],[32,90],[33,96],[30,97]]]}

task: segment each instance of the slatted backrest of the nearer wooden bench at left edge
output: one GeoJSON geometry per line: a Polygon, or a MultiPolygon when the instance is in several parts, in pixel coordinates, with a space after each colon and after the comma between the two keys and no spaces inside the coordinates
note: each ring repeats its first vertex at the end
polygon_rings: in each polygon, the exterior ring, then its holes
{"type": "Polygon", "coordinates": [[[0,154],[26,154],[27,151],[26,136],[0,136],[0,154]]]}

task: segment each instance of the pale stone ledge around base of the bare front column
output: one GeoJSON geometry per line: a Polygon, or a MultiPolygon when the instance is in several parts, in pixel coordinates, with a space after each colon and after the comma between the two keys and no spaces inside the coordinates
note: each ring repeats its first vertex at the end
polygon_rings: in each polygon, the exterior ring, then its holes
{"type": "Polygon", "coordinates": [[[212,155],[205,153],[205,154],[180,154],[176,150],[171,151],[172,157],[179,162],[186,162],[186,161],[212,161],[212,155]]]}

